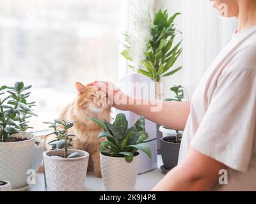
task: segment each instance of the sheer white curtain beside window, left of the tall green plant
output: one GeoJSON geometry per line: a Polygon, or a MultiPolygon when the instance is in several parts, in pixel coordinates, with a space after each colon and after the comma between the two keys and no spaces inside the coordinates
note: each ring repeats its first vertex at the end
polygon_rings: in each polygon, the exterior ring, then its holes
{"type": "MultiPolygon", "coordinates": [[[[122,22],[120,25],[119,39],[120,42],[124,43],[124,33],[127,32],[131,35],[132,59],[137,59],[135,61],[140,61],[141,57],[143,57],[145,41],[147,41],[150,32],[150,18],[153,15],[155,1],[122,0],[119,3],[119,18],[121,19],[120,22],[122,22]]],[[[122,43],[119,45],[120,52],[124,50],[122,43]]],[[[132,62],[124,59],[120,54],[118,57],[119,79],[127,74],[134,73],[128,64],[134,65],[132,62]]]]}

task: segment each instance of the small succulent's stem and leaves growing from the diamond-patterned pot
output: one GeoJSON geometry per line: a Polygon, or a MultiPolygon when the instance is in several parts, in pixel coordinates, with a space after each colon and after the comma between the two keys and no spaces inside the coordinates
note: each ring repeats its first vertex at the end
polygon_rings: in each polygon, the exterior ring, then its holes
{"type": "Polygon", "coordinates": [[[73,121],[61,118],[54,120],[54,122],[44,122],[44,124],[50,124],[49,128],[53,129],[53,132],[49,135],[56,135],[56,138],[48,143],[48,145],[51,145],[52,149],[63,149],[64,158],[79,157],[77,152],[68,155],[68,148],[72,147],[73,138],[75,136],[68,132],[68,130],[74,126],[73,121]]]}

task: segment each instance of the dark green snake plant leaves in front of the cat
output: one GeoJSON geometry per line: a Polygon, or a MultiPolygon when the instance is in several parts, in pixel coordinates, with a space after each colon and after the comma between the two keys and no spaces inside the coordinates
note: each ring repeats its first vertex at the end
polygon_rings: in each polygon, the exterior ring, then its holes
{"type": "Polygon", "coordinates": [[[100,152],[106,156],[125,157],[128,163],[131,163],[133,157],[141,150],[151,158],[150,147],[147,142],[148,133],[145,131],[145,117],[140,119],[128,128],[128,122],[124,114],[116,115],[113,124],[102,121],[97,118],[90,118],[101,126],[104,131],[99,134],[99,138],[106,137],[107,140],[100,143],[100,152]]]}

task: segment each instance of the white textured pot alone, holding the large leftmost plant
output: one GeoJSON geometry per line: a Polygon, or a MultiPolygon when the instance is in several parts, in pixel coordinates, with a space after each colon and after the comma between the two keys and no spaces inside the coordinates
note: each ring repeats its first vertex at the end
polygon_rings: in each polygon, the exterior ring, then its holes
{"type": "Polygon", "coordinates": [[[27,171],[33,168],[35,136],[17,133],[19,138],[30,138],[20,142],[0,142],[0,180],[8,180],[12,189],[28,186],[27,171]]]}

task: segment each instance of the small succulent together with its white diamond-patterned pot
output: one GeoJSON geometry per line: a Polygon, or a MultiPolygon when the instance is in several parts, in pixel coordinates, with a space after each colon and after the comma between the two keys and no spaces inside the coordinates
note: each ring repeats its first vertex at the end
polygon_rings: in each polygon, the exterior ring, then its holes
{"type": "MultiPolygon", "coordinates": [[[[86,179],[89,153],[83,150],[68,149],[75,135],[68,133],[74,122],[56,119],[49,128],[55,135],[48,143],[52,150],[44,152],[45,185],[49,191],[83,191],[86,179]]],[[[47,136],[49,136],[47,135],[47,136]]]]}

